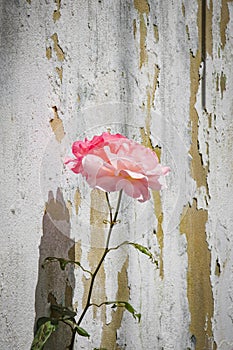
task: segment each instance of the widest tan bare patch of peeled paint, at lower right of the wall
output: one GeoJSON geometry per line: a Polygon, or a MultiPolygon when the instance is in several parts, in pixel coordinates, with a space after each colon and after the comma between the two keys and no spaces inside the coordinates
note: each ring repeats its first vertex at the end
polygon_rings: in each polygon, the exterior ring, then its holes
{"type": "Polygon", "coordinates": [[[208,213],[197,208],[197,201],[185,208],[180,232],[187,238],[188,301],[191,314],[190,332],[196,338],[196,350],[209,349],[213,316],[213,295],[210,283],[211,254],[206,242],[208,213]]]}

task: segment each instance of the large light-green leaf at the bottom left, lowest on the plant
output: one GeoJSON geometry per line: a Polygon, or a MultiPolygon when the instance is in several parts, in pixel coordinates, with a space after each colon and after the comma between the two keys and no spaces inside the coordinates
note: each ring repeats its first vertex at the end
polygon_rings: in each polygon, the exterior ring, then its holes
{"type": "MultiPolygon", "coordinates": [[[[45,318],[43,317],[44,321],[45,318]]],[[[45,343],[51,336],[51,334],[57,329],[58,325],[54,324],[51,319],[42,323],[36,332],[35,338],[33,339],[31,350],[42,350],[45,343]]]]}

